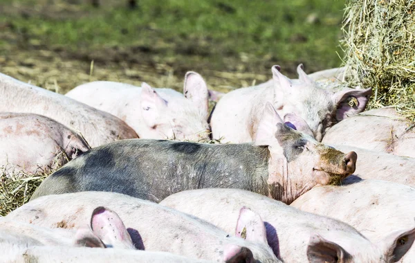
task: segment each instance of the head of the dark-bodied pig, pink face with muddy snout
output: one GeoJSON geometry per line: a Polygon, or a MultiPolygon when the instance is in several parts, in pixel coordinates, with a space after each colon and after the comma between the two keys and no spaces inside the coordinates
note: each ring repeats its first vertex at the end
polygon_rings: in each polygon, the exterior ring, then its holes
{"type": "Polygon", "coordinates": [[[356,152],[344,154],[289,126],[268,102],[255,145],[268,146],[270,151],[269,197],[289,204],[315,186],[338,184],[353,174],[356,152]]]}

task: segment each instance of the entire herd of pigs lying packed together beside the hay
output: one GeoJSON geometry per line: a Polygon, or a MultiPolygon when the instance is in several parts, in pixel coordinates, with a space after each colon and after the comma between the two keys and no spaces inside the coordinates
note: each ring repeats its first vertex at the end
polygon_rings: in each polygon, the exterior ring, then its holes
{"type": "Polygon", "coordinates": [[[0,73],[0,172],[55,171],[0,218],[0,262],[415,262],[414,125],[343,69],[280,71],[66,96],[0,73]]]}

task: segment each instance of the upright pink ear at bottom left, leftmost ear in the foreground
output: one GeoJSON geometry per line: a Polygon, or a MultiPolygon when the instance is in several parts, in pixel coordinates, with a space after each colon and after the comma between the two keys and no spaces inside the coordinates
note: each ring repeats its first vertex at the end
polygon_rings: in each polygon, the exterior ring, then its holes
{"type": "Polygon", "coordinates": [[[95,208],[91,217],[91,228],[104,244],[113,247],[134,248],[127,229],[116,212],[102,206],[95,208]]]}

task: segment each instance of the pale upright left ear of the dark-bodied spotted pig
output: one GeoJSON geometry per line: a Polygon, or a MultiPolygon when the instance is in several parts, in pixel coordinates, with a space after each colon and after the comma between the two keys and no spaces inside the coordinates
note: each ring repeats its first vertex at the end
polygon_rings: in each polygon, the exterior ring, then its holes
{"type": "Polygon", "coordinates": [[[255,136],[254,145],[269,146],[275,141],[275,132],[277,131],[277,124],[283,123],[282,119],[275,111],[270,102],[266,102],[264,114],[259,121],[257,135],[255,136]]]}

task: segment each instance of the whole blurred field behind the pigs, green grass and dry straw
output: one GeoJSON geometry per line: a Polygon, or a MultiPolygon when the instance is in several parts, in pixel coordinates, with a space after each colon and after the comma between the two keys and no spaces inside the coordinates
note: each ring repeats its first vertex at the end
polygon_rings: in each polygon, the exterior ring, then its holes
{"type": "Polygon", "coordinates": [[[344,1],[3,0],[0,72],[64,93],[115,80],[180,90],[186,71],[229,91],[340,66],[344,1]],[[91,62],[93,61],[93,67],[91,62]],[[93,69],[93,71],[91,71],[93,69]]]}

